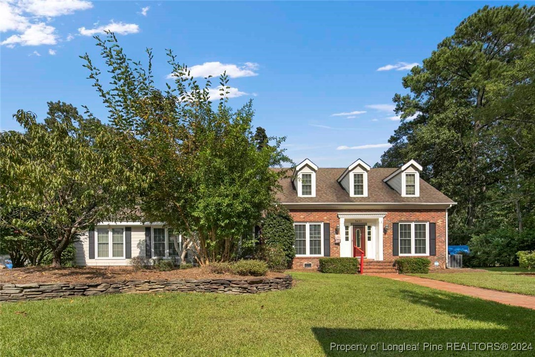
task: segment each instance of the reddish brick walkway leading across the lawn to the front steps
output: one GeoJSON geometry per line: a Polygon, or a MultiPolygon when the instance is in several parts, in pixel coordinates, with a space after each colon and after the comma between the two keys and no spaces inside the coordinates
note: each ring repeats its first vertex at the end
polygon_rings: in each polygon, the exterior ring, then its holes
{"type": "Polygon", "coordinates": [[[529,295],[506,293],[502,291],[489,290],[489,289],[484,289],[480,287],[464,286],[464,285],[459,285],[459,284],[441,282],[439,280],[419,278],[415,276],[408,276],[408,275],[401,275],[401,274],[370,274],[370,275],[378,276],[381,278],[399,280],[401,282],[407,282],[407,283],[432,287],[434,289],[449,291],[452,293],[470,295],[471,297],[475,297],[475,298],[501,302],[507,305],[521,306],[521,307],[526,307],[528,309],[535,310],[535,297],[529,296],[529,295]]]}

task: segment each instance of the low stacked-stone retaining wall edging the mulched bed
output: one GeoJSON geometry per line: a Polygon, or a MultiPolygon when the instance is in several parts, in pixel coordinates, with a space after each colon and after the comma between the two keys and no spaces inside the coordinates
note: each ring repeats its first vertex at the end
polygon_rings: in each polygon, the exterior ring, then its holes
{"type": "Polygon", "coordinates": [[[179,279],[179,280],[126,280],[117,283],[0,283],[0,301],[47,300],[72,298],[80,295],[101,295],[115,293],[153,291],[195,291],[223,294],[256,294],[267,291],[285,290],[292,287],[292,277],[281,278],[236,278],[221,279],[179,279]]]}

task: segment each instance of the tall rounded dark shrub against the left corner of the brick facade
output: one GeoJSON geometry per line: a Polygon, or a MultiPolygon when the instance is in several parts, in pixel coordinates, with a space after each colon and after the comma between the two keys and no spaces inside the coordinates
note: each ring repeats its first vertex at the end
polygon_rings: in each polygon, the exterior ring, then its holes
{"type": "Polygon", "coordinates": [[[262,242],[273,247],[282,248],[289,264],[295,257],[294,219],[282,205],[270,209],[262,224],[262,242]]]}

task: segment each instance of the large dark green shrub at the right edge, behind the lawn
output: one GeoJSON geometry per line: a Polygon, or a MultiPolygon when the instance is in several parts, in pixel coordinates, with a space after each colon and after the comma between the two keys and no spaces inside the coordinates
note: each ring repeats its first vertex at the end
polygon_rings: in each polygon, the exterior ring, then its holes
{"type": "Polygon", "coordinates": [[[468,246],[472,267],[517,265],[517,252],[535,249],[535,230],[498,229],[472,236],[468,246]]]}

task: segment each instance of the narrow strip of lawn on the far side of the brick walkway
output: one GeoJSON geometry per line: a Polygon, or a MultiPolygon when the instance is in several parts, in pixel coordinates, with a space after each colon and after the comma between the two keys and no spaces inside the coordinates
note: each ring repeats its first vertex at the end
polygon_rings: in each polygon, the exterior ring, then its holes
{"type": "MultiPolygon", "coordinates": [[[[535,276],[516,274],[528,272],[518,267],[482,268],[487,271],[468,271],[456,273],[414,274],[422,278],[441,280],[492,290],[507,291],[524,295],[535,295],[535,276]]],[[[534,272],[534,271],[531,271],[534,272]]]]}

